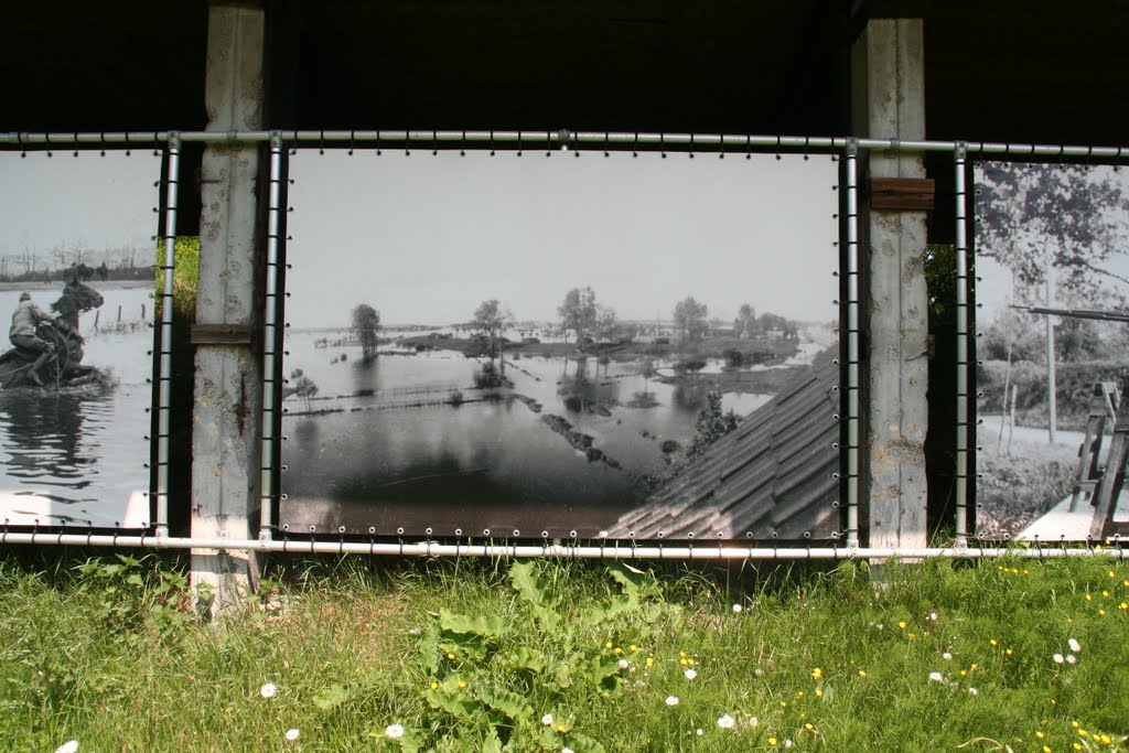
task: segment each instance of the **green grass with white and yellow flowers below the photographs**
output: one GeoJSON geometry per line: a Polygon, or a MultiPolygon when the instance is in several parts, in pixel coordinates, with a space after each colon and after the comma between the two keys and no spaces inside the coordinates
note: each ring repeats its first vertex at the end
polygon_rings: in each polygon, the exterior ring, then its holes
{"type": "Polygon", "coordinates": [[[295,562],[201,624],[176,562],[9,555],[0,750],[1127,750],[1117,560],[511,566],[295,562]]]}

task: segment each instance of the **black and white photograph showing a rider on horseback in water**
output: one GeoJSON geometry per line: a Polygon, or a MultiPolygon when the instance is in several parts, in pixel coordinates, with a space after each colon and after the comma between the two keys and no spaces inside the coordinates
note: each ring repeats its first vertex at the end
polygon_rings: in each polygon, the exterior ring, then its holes
{"type": "Polygon", "coordinates": [[[160,157],[0,154],[0,519],[141,528],[160,157]]]}

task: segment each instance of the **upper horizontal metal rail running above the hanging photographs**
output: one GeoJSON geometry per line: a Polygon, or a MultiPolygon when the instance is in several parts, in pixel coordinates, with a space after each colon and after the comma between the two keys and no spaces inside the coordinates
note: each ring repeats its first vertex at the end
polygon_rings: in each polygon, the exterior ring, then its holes
{"type": "Polygon", "coordinates": [[[970,156],[1004,155],[1008,157],[1084,157],[1087,159],[1121,159],[1129,157],[1129,147],[1093,147],[1067,145],[1006,143],[997,141],[927,141],[901,139],[852,139],[850,137],[806,135],[739,135],[723,133],[634,133],[598,131],[412,131],[412,130],[325,130],[325,131],[141,131],[141,132],[77,132],[77,133],[0,133],[0,145],[16,147],[154,147],[173,138],[182,142],[229,143],[237,146],[248,142],[266,142],[280,138],[287,143],[392,143],[457,146],[460,143],[497,145],[522,147],[614,147],[618,150],[631,147],[677,148],[692,151],[695,147],[710,150],[726,150],[741,154],[742,150],[844,149],[855,143],[859,149],[883,149],[890,152],[956,151],[965,149],[970,156]]]}

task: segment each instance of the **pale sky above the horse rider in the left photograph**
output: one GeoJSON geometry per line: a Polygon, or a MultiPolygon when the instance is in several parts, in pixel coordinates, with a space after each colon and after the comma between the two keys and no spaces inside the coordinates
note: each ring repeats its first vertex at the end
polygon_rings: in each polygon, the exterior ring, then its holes
{"type": "Polygon", "coordinates": [[[76,244],[95,252],[156,248],[158,180],[152,149],[0,152],[0,256],[44,256],[76,244]]]}

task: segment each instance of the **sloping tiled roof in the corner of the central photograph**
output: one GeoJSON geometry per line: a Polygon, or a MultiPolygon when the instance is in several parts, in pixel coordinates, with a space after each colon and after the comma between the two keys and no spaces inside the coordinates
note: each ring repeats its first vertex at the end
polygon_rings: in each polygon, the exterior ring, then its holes
{"type": "Polygon", "coordinates": [[[839,365],[829,348],[623,515],[613,537],[830,539],[840,529],[839,365]]]}

